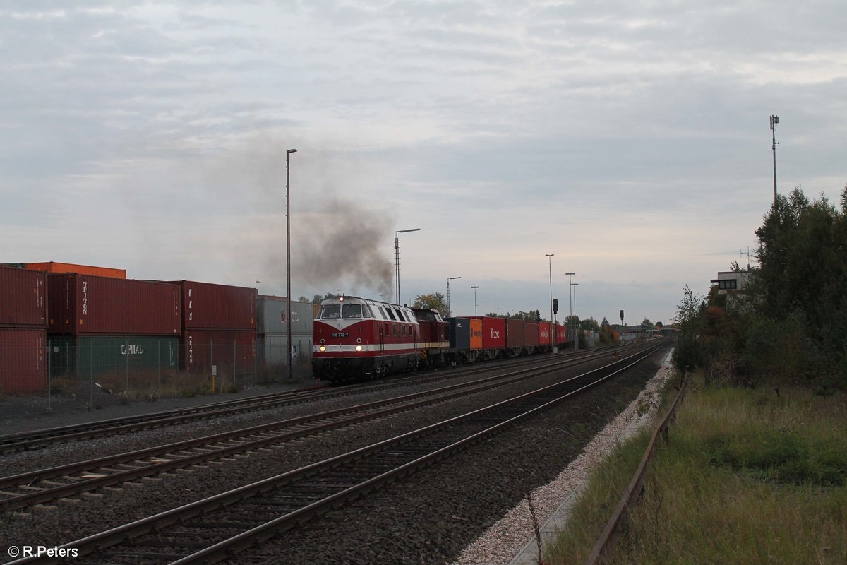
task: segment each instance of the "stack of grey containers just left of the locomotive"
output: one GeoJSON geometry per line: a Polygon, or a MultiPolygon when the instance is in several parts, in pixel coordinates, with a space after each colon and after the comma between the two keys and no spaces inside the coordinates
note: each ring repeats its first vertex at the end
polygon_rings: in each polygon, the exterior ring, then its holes
{"type": "Polygon", "coordinates": [[[291,324],[291,357],[294,363],[312,360],[314,305],[288,301],[283,296],[261,295],[257,302],[258,356],[264,365],[285,365],[288,349],[288,324],[291,324]]]}

